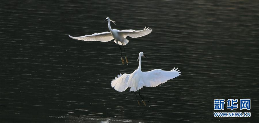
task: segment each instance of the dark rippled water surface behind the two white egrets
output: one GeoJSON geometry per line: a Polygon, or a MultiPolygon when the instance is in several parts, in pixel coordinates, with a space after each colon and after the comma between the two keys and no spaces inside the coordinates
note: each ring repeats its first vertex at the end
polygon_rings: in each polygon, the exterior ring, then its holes
{"type": "MultiPolygon", "coordinates": [[[[0,122],[258,122],[259,1],[1,1],[0,122]],[[68,38],[153,29],[114,42],[68,38]],[[147,106],[110,82],[119,73],[179,67],[178,78],[142,88],[147,106]],[[251,99],[251,117],[214,118],[214,99],[251,99]]],[[[225,102],[226,103],[226,102],[225,102]]],[[[225,104],[226,106],[226,104],[225,104]]],[[[232,112],[226,109],[223,112],[232,112]]]]}

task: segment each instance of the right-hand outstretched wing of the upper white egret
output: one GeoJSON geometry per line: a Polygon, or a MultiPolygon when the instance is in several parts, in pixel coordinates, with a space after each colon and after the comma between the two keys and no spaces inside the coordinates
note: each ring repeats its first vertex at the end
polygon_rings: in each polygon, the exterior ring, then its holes
{"type": "Polygon", "coordinates": [[[121,30],[119,33],[123,35],[124,38],[127,36],[130,36],[131,38],[138,38],[138,37],[148,35],[151,31],[152,29],[148,29],[145,27],[143,30],[128,29],[128,30],[121,30]]]}

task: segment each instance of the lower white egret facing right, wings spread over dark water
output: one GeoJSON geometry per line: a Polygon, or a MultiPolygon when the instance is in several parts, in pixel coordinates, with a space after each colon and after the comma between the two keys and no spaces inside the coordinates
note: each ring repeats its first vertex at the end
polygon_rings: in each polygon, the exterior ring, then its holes
{"type": "MultiPolygon", "coordinates": [[[[142,103],[144,105],[146,105],[143,97],[140,95],[140,89],[143,86],[156,87],[162,83],[167,82],[169,79],[178,77],[181,72],[179,72],[180,70],[177,70],[178,68],[176,68],[176,69],[174,68],[170,71],[154,69],[151,71],[142,72],[141,71],[141,57],[142,56],[145,57],[143,52],[140,52],[139,58],[138,58],[138,60],[139,60],[138,69],[136,69],[131,74],[124,73],[123,75],[122,74],[118,75],[118,77],[115,77],[115,79],[113,79],[111,81],[111,87],[119,92],[126,91],[126,89],[130,87],[130,91],[135,92],[135,96],[136,96],[138,104],[139,104],[139,100],[137,98],[136,91],[139,91],[139,96],[142,98],[142,103]]],[[[140,106],[140,104],[139,104],[139,106],[140,106]]]]}

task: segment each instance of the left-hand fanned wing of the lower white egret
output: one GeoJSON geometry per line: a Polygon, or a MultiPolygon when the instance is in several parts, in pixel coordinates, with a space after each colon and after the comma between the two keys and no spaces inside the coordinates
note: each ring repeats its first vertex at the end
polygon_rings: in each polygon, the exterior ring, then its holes
{"type": "Polygon", "coordinates": [[[130,74],[126,73],[124,73],[123,75],[118,75],[118,77],[115,77],[115,79],[111,81],[111,87],[119,92],[126,91],[126,89],[129,87],[129,76],[130,74]]]}

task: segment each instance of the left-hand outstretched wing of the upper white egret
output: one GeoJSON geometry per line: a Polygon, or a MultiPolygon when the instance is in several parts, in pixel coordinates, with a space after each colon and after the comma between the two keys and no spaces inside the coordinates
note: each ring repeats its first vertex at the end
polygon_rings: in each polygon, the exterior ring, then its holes
{"type": "Polygon", "coordinates": [[[100,42],[109,42],[113,39],[113,36],[111,35],[111,32],[101,32],[101,33],[95,33],[92,35],[85,35],[80,37],[73,37],[68,35],[70,38],[76,39],[76,40],[82,40],[82,41],[100,41],[100,42]]]}

